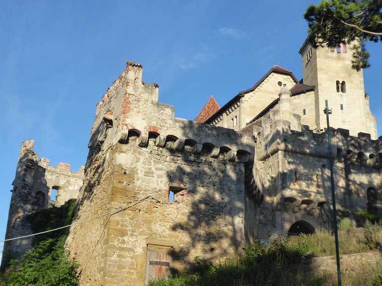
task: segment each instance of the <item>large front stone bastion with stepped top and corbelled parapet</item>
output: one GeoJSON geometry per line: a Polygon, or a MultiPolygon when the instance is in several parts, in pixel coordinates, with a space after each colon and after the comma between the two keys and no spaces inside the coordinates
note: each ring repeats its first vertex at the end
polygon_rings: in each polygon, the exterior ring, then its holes
{"type": "Polygon", "coordinates": [[[72,227],[68,245],[81,285],[144,285],[148,249],[161,249],[179,269],[245,243],[254,138],[175,118],[174,107],[158,103],[158,85],[141,74],[128,62],[97,104],[76,221],[130,207],[72,227]]]}

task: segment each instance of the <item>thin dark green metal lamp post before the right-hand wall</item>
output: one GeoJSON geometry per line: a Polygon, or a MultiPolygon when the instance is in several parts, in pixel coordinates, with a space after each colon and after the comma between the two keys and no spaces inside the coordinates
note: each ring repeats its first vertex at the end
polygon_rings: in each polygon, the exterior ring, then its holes
{"type": "Polygon", "coordinates": [[[333,224],[334,224],[334,238],[336,243],[336,261],[337,261],[337,277],[338,286],[341,286],[341,266],[340,266],[340,249],[338,244],[338,227],[337,227],[337,208],[336,208],[336,194],[334,192],[334,176],[333,176],[333,155],[332,155],[332,144],[330,139],[330,124],[329,124],[329,114],[332,114],[332,109],[328,107],[328,100],[325,100],[325,109],[327,132],[328,132],[328,151],[329,151],[329,161],[330,161],[330,184],[332,189],[332,204],[333,204],[333,224]]]}

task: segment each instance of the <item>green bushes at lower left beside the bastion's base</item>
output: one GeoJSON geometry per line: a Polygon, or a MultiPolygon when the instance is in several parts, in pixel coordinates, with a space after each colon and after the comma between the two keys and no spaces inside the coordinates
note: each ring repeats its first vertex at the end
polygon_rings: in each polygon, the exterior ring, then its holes
{"type": "MultiPolygon", "coordinates": [[[[76,200],[61,207],[45,209],[28,217],[34,233],[70,224],[76,200]]],[[[65,249],[69,228],[34,237],[33,250],[20,261],[12,260],[2,277],[1,285],[8,286],[76,286],[77,264],[68,260],[65,249]]]]}

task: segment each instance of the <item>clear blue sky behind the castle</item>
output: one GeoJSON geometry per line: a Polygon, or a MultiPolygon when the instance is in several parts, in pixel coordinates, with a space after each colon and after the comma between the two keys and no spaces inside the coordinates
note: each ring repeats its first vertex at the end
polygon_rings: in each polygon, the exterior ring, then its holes
{"type": "MultiPolygon", "coordinates": [[[[1,1],[3,106],[0,237],[20,144],[58,162],[84,165],[95,104],[126,61],[160,85],[159,100],[193,119],[210,95],[220,105],[273,65],[301,78],[302,17],[318,1],[1,1]]],[[[382,45],[368,44],[366,91],[382,127],[382,45]]]]}

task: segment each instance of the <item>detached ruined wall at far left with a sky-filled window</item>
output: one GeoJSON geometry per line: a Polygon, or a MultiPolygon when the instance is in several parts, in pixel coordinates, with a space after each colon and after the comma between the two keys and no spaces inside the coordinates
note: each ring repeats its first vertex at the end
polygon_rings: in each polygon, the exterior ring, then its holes
{"type": "MultiPolygon", "coordinates": [[[[82,186],[84,167],[79,171],[71,171],[71,165],[67,163],[51,166],[49,159],[42,157],[39,160],[33,148],[34,140],[26,140],[21,145],[12,183],[5,239],[31,234],[30,225],[25,219],[27,214],[77,199],[82,186]],[[56,198],[52,198],[52,189],[57,190],[56,198]]],[[[31,243],[31,237],[6,241],[1,267],[6,267],[10,259],[20,258],[31,247],[31,243]]]]}

